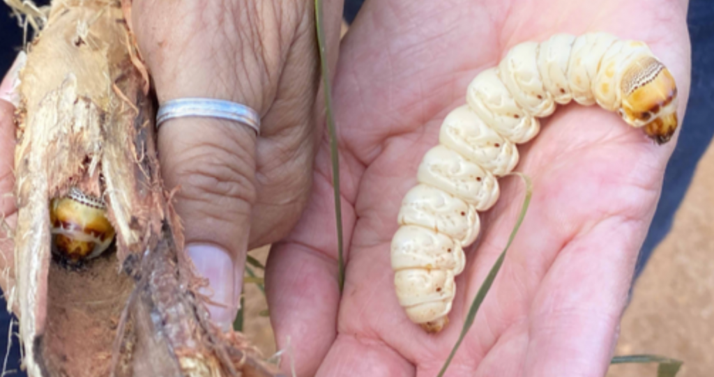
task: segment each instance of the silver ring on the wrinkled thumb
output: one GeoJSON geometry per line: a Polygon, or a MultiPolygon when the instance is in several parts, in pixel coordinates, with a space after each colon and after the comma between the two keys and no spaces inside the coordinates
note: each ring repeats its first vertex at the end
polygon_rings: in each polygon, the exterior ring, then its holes
{"type": "Polygon", "coordinates": [[[256,131],[256,135],[261,134],[261,117],[255,110],[236,102],[205,98],[166,101],[159,106],[159,112],[156,114],[156,129],[169,119],[196,116],[237,121],[256,131]]]}

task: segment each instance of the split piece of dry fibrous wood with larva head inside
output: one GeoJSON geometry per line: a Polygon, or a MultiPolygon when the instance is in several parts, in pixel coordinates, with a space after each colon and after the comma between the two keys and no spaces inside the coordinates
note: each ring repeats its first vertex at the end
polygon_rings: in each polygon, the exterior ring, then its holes
{"type": "Polygon", "coordinates": [[[7,290],[24,366],[33,377],[272,376],[240,334],[209,323],[195,293],[205,282],[159,177],[130,10],[130,1],[55,0],[27,46],[7,290]],[[109,221],[114,241],[91,221],[109,221]]]}

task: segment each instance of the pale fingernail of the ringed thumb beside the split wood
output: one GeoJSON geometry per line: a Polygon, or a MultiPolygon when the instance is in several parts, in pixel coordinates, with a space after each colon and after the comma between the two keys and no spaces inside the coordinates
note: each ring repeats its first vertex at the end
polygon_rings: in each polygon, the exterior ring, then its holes
{"type": "Polygon", "coordinates": [[[223,248],[210,244],[190,244],[186,246],[186,251],[198,273],[207,278],[210,284],[201,288],[200,293],[216,303],[208,304],[211,320],[223,331],[230,330],[238,314],[238,296],[241,293],[233,258],[223,248]]]}

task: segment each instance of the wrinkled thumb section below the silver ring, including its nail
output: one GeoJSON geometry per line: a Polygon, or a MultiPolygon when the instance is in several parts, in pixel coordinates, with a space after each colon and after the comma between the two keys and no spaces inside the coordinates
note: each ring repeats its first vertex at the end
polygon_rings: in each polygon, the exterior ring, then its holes
{"type": "Polygon", "coordinates": [[[256,135],[237,122],[183,118],[159,129],[161,173],[178,187],[176,212],[186,251],[206,290],[214,323],[230,328],[238,312],[243,266],[256,198],[256,135]]]}

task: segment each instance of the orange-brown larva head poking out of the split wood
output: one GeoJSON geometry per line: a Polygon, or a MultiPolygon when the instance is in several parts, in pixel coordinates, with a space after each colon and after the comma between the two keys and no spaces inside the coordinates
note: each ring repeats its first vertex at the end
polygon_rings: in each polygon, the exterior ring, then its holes
{"type": "Polygon", "coordinates": [[[50,205],[55,253],[71,261],[99,256],[114,239],[114,227],[106,218],[104,201],[71,188],[50,205]]]}

